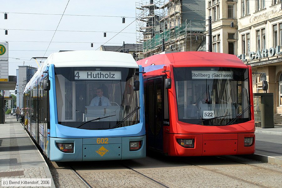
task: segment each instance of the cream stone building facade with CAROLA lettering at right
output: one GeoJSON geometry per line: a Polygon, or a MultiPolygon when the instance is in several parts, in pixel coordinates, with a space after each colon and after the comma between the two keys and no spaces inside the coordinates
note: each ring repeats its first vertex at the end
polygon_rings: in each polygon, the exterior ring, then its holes
{"type": "MultiPolygon", "coordinates": [[[[268,81],[266,92],[274,93],[274,113],[282,113],[281,6],[281,0],[206,0],[213,51],[237,55],[252,66],[254,93],[265,92],[262,81],[268,81]]],[[[208,41],[207,33],[206,24],[208,41]]]]}

